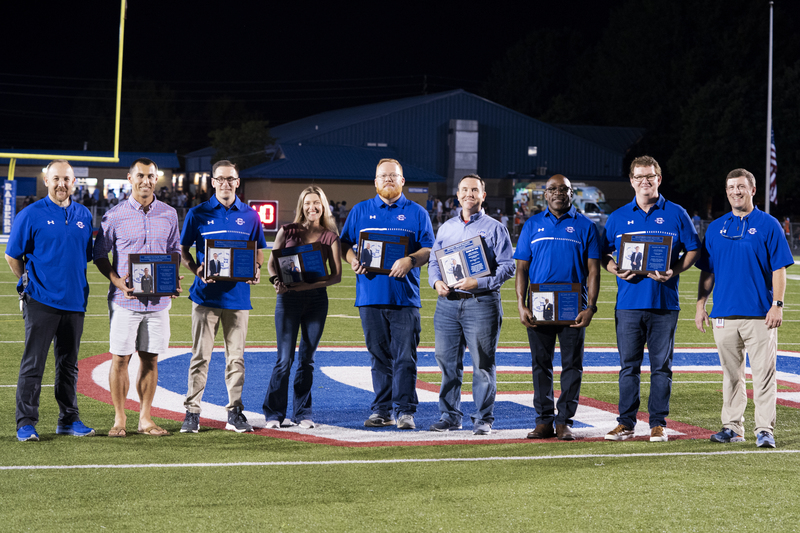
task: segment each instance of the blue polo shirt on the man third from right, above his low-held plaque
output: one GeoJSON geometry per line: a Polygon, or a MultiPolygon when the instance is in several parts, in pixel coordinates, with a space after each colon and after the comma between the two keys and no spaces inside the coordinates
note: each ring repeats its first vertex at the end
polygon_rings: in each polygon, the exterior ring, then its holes
{"type": "Polygon", "coordinates": [[[586,301],[588,260],[600,259],[600,234],[574,206],[561,218],[545,209],[522,226],[514,259],[530,261],[529,283],[580,283],[586,301]]]}

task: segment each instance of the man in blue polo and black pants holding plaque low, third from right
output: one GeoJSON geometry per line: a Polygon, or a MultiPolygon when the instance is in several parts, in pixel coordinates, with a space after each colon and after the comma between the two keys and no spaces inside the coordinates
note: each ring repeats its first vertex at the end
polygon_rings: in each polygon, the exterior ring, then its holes
{"type": "MultiPolygon", "coordinates": [[[[583,377],[586,327],[597,312],[600,289],[600,236],[597,226],[572,206],[570,181],[556,174],[545,185],[547,209],[522,227],[514,258],[517,260],[517,308],[528,328],[533,368],[533,407],[536,427],[529,439],[574,440],[573,417],[578,409],[583,377]],[[536,323],[528,303],[531,283],[580,283],[580,312],[574,324],[536,323]],[[558,414],[553,394],[553,357],[558,337],[561,347],[561,394],[558,414]],[[555,424],[555,430],[553,425],[555,424]]],[[[544,319],[553,320],[553,304],[544,319]]]]}

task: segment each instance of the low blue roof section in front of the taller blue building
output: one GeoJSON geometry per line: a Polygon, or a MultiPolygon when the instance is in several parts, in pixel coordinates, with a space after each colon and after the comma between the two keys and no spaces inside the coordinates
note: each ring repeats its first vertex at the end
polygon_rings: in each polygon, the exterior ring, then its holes
{"type": "MultiPolygon", "coordinates": [[[[314,145],[306,143],[281,144],[282,158],[242,170],[239,177],[291,179],[303,181],[375,179],[375,166],[384,158],[397,159],[388,147],[357,147],[314,145]]],[[[402,163],[402,162],[401,162],[402,163]]],[[[443,176],[412,165],[403,164],[403,176],[408,183],[437,183],[443,176]]]]}

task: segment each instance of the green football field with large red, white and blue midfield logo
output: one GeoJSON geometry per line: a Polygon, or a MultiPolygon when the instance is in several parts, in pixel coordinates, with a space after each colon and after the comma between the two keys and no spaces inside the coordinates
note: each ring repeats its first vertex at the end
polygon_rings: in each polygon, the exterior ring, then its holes
{"type": "MultiPolygon", "coordinates": [[[[5,246],[0,245],[0,250],[5,246]]],[[[136,434],[131,391],[128,437],[106,436],[113,422],[107,392],[107,280],[89,265],[91,293],[81,348],[78,404],[98,435],[56,436],[58,407],[48,361],[41,394],[40,442],[19,443],[14,397],[24,327],[16,279],[0,265],[0,494],[4,531],[795,531],[800,529],[800,270],[789,269],[779,333],[777,449],[755,446],[753,406],[746,442],[714,444],[722,403],[711,333],[694,327],[697,269],[681,276],[670,441],[650,443],[646,412],[635,439],[607,442],[618,399],[614,349],[616,284],[603,272],[599,312],[587,330],[586,373],[574,442],[525,439],[532,429],[527,336],[513,280],[502,290],[505,321],[498,354],[496,431],[472,435],[468,416],[454,435],[426,431],[436,421],[439,376],[433,358],[435,292],[423,283],[417,430],[365,431],[369,356],[353,307],[355,275],[328,289],[330,308],[319,350],[312,430],[224,427],[224,356],[215,352],[201,430],[179,433],[190,352],[191,307],[175,300],[170,353],[161,359],[154,413],[173,434],[136,434]],[[105,379],[105,381],[104,381],[105,379]]],[[[188,274],[183,270],[182,273],[188,274]]],[[[427,279],[423,268],[423,279],[427,279]]],[[[191,275],[183,285],[188,293],[191,275]]],[[[274,290],[252,290],[247,377],[248,418],[263,422],[260,402],[274,364],[274,290]],[[259,419],[260,417],[260,419],[259,419]]],[[[709,306],[710,309],[710,306],[709,306]]],[[[217,337],[221,346],[221,333],[217,337]]],[[[221,350],[221,349],[220,349],[221,350]]],[[[465,362],[465,366],[469,366],[465,362]]],[[[133,366],[133,365],[132,365],[133,366]]],[[[643,367],[642,405],[649,374],[643,367]]],[[[465,376],[462,405],[469,402],[465,376]]],[[[135,383],[135,376],[132,379],[135,383]]],[[[748,384],[748,388],[749,384],[748,384]]],[[[134,387],[132,387],[134,389],[134,387]]],[[[646,409],[645,409],[646,410],[646,409]]]]}

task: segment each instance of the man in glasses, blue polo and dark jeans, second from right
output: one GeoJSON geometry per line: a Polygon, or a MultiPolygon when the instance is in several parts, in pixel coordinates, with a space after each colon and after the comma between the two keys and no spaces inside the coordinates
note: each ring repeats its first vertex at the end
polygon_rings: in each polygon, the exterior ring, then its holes
{"type": "MultiPolygon", "coordinates": [[[[650,442],[668,440],[666,426],[672,393],[672,352],[678,325],[678,275],[689,269],[700,253],[700,241],[689,214],[658,193],[661,167],[650,156],[631,162],[633,201],[620,207],[606,221],[603,266],[617,276],[614,320],[619,349],[619,417],[606,440],[625,440],[634,434],[639,411],[644,346],[650,357],[650,442]],[[624,234],[672,237],[669,268],[643,276],[622,270],[620,241],[624,234]],[[615,261],[614,251],[619,251],[615,261]],[[680,255],[684,252],[683,255],[680,255]]],[[[647,263],[645,258],[645,263],[647,263]]],[[[645,266],[647,266],[645,264],[645,266]]]]}

